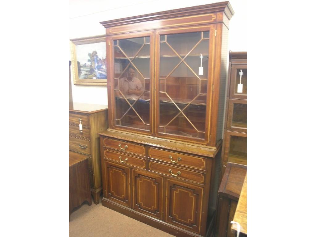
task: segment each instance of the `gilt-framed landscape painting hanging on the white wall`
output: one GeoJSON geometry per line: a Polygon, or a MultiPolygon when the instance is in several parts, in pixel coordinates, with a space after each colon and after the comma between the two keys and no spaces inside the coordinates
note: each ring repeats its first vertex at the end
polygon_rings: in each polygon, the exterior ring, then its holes
{"type": "Polygon", "coordinates": [[[74,85],[106,86],[106,36],[70,40],[74,85]]]}

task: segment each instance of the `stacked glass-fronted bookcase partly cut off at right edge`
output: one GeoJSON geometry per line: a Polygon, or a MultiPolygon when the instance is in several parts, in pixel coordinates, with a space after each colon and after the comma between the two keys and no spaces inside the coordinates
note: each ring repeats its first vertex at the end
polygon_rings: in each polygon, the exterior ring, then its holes
{"type": "Polygon", "coordinates": [[[247,52],[229,52],[222,175],[227,162],[247,165],[247,52]]]}

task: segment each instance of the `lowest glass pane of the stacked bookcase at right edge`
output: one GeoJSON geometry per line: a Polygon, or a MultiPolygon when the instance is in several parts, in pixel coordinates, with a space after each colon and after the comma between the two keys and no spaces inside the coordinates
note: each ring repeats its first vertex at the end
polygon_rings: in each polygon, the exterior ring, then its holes
{"type": "Polygon", "coordinates": [[[228,162],[247,165],[247,137],[230,137],[228,162]]]}

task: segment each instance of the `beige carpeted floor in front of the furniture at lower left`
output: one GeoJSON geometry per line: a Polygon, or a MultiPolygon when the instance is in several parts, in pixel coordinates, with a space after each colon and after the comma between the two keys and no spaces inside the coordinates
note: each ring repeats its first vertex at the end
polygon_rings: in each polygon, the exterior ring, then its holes
{"type": "Polygon", "coordinates": [[[69,237],[173,237],[102,206],[84,202],[70,214],[69,237]]]}

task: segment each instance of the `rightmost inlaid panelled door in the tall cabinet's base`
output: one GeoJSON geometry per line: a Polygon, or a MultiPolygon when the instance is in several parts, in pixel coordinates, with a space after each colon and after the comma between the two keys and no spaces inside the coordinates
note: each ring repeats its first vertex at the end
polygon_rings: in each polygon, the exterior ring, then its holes
{"type": "Polygon", "coordinates": [[[200,232],[204,188],[167,179],[166,222],[200,232]]]}

